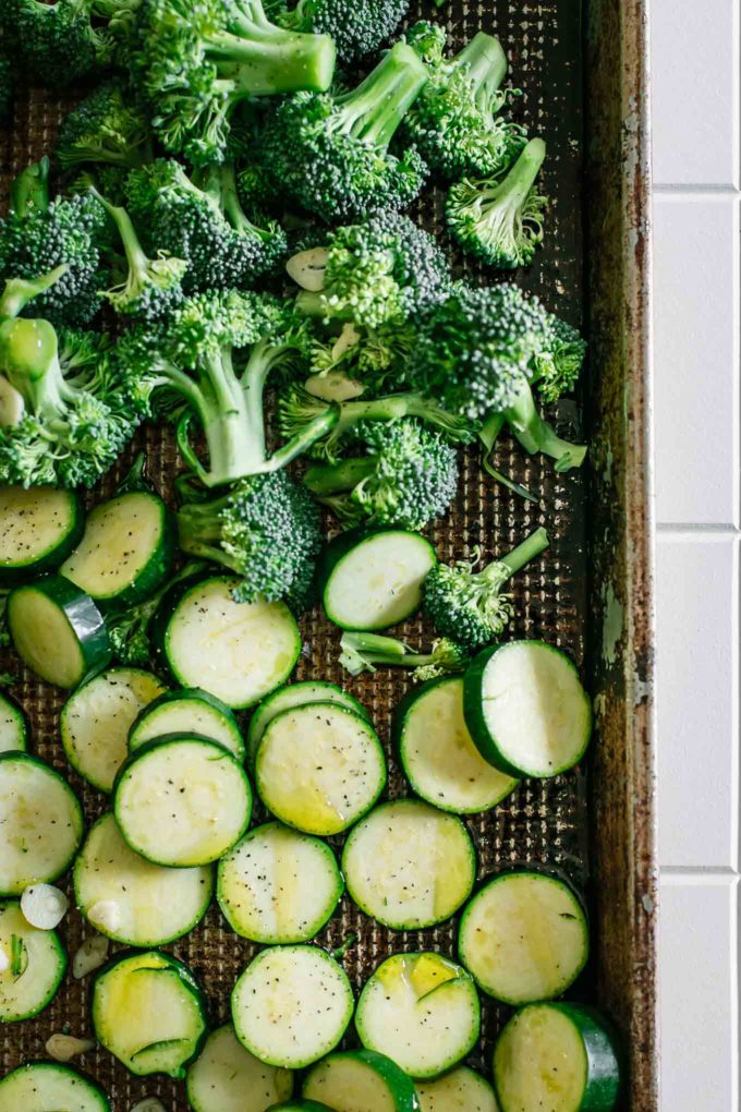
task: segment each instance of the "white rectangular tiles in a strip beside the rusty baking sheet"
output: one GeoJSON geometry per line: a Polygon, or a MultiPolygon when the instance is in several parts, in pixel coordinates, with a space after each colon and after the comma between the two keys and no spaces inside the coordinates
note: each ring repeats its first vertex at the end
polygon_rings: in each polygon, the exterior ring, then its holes
{"type": "Polygon", "coordinates": [[[662,1112],[741,1112],[740,22],[651,2],[662,1112]]]}

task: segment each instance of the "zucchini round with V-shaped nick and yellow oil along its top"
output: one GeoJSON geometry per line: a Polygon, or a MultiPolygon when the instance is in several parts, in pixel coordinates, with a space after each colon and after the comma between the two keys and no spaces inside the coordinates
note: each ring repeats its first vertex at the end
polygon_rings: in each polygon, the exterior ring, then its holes
{"type": "Polygon", "coordinates": [[[455,1065],[479,1037],[481,1005],[472,977],[441,954],[394,954],[358,1001],[363,1046],[385,1054],[413,1078],[455,1065]]]}

